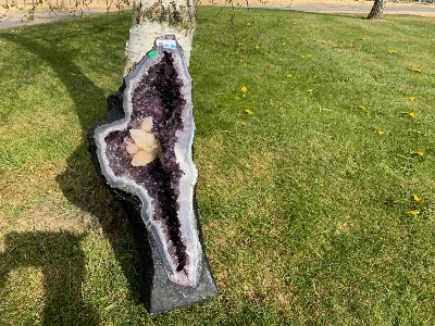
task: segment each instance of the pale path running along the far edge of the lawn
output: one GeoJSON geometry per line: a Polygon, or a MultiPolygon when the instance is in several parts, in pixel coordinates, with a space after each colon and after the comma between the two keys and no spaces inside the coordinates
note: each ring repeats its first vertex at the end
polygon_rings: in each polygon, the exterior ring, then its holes
{"type": "MultiPolygon", "coordinates": [[[[352,4],[337,4],[337,3],[295,3],[291,5],[252,5],[251,8],[264,9],[281,9],[281,10],[296,10],[306,12],[320,12],[320,13],[366,13],[369,14],[372,5],[352,3],[352,4]]],[[[117,11],[116,9],[111,11],[117,11]]],[[[84,14],[104,13],[105,9],[92,9],[85,11],[84,14]]],[[[435,7],[433,5],[395,5],[388,4],[384,10],[385,14],[409,14],[435,17],[435,7]]],[[[129,14],[129,13],[128,13],[129,14]]],[[[9,12],[5,16],[0,14],[0,29],[20,28],[22,26],[44,24],[48,22],[65,20],[74,15],[67,11],[37,11],[35,12],[35,20],[28,21],[25,17],[25,12],[9,12]]]]}

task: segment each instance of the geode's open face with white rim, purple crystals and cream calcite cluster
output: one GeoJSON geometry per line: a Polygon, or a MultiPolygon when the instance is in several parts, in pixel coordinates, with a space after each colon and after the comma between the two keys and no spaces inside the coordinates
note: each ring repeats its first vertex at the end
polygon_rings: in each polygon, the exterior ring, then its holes
{"type": "Polygon", "coordinates": [[[156,40],[126,77],[122,98],[125,116],[94,131],[101,174],[110,187],[140,199],[167,277],[196,287],[202,252],[194,212],[191,79],[173,36],[156,40]]]}

